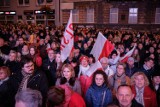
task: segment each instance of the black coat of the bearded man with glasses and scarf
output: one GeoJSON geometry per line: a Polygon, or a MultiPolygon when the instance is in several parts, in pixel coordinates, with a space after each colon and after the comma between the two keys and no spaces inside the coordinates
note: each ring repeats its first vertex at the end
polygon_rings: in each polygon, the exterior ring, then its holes
{"type": "MultiPolygon", "coordinates": [[[[23,75],[21,72],[19,74],[13,74],[11,77],[12,87],[13,87],[12,91],[15,94],[19,89],[22,79],[23,75]]],[[[27,88],[40,91],[43,97],[43,102],[45,103],[48,92],[48,81],[46,75],[43,72],[35,70],[34,74],[28,80],[27,88]]]]}

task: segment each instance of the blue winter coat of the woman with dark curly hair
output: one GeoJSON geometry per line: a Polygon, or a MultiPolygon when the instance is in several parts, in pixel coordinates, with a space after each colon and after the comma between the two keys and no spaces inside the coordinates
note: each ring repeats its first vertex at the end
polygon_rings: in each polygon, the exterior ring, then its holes
{"type": "Polygon", "coordinates": [[[93,83],[86,92],[85,100],[87,107],[107,107],[112,102],[112,92],[106,84],[99,87],[93,83]]]}

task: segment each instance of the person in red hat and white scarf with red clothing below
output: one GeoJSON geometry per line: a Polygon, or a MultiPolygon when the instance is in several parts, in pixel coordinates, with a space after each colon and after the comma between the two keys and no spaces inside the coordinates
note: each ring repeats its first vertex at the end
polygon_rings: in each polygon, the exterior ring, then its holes
{"type": "Polygon", "coordinates": [[[85,96],[87,89],[92,83],[92,76],[91,77],[87,76],[87,71],[90,68],[88,57],[83,55],[80,57],[79,60],[80,60],[80,65],[79,65],[78,78],[82,88],[82,96],[85,96]]]}

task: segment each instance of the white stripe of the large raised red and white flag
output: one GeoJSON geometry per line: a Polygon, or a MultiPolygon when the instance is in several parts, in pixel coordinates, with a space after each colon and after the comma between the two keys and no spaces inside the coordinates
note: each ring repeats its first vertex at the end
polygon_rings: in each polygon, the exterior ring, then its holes
{"type": "Polygon", "coordinates": [[[90,52],[95,57],[96,61],[98,60],[98,58],[103,50],[103,47],[104,47],[106,40],[107,39],[103,36],[103,34],[101,32],[99,32],[97,40],[94,43],[94,46],[90,52]]]}

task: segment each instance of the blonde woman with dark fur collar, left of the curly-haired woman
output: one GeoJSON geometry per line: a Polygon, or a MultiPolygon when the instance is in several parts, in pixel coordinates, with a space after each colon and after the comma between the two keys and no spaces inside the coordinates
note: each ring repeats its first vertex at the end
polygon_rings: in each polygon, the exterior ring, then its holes
{"type": "Polygon", "coordinates": [[[58,78],[56,85],[68,85],[73,91],[81,95],[81,86],[78,79],[75,77],[74,68],[70,64],[64,64],[61,69],[61,78],[58,78]]]}

